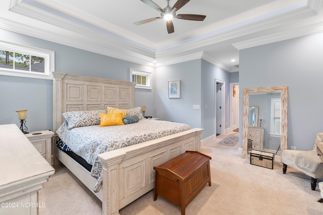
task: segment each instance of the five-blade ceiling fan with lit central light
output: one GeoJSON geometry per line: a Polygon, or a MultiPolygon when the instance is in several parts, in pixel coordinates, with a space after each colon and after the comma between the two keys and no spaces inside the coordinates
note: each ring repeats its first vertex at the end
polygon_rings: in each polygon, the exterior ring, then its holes
{"type": "Polygon", "coordinates": [[[166,8],[160,8],[156,3],[152,2],[151,0],[140,0],[141,2],[145,3],[149,7],[157,10],[160,12],[160,17],[154,17],[146,20],[142,20],[139,22],[135,22],[135,25],[141,25],[148,22],[155,21],[157,19],[165,19],[167,31],[169,34],[174,32],[174,25],[173,25],[173,18],[182,19],[182,20],[193,20],[193,21],[203,21],[206,16],[204,15],[196,15],[196,14],[178,14],[176,12],[180,10],[184,5],[186,5],[190,0],[177,0],[175,5],[171,8],[170,7],[170,0],[167,0],[166,8]]]}

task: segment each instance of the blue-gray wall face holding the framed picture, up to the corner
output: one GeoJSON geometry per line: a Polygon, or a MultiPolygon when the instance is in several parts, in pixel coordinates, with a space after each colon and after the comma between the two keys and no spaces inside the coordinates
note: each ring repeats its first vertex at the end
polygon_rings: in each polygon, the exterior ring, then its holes
{"type": "Polygon", "coordinates": [[[201,59],[155,69],[155,117],[201,127],[201,59]],[[181,80],[181,98],[168,98],[168,81],[181,80]]]}

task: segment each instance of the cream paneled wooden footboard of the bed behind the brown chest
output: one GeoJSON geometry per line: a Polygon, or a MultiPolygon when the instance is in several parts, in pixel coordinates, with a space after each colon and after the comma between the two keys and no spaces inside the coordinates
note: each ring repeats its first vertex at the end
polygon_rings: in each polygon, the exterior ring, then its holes
{"type": "Polygon", "coordinates": [[[185,151],[200,151],[202,131],[194,128],[99,154],[103,166],[102,213],[119,214],[119,209],[153,189],[154,166],[185,151]]]}

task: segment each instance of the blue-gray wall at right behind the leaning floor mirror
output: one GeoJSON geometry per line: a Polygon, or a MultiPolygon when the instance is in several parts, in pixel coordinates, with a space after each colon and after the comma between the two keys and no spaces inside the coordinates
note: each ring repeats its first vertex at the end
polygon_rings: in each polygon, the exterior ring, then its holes
{"type": "MultiPolygon", "coordinates": [[[[317,33],[240,50],[240,95],[244,88],[288,86],[289,149],[311,150],[316,133],[323,132],[322,38],[317,33]]],[[[243,96],[239,113],[242,127],[243,96]]]]}

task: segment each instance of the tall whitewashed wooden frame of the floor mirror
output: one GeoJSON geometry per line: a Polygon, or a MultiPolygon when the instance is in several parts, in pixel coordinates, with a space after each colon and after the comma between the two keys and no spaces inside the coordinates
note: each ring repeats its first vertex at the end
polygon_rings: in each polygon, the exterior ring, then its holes
{"type": "MultiPolygon", "coordinates": [[[[281,155],[283,150],[287,149],[287,104],[288,104],[288,87],[260,87],[260,88],[245,88],[243,95],[243,129],[242,129],[242,158],[248,157],[247,140],[248,140],[248,109],[249,109],[249,93],[257,92],[280,92],[282,102],[282,133],[281,133],[281,155]]],[[[282,162],[282,157],[281,157],[282,162]]]]}

